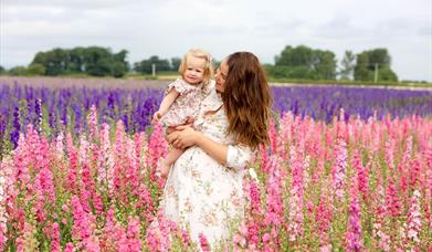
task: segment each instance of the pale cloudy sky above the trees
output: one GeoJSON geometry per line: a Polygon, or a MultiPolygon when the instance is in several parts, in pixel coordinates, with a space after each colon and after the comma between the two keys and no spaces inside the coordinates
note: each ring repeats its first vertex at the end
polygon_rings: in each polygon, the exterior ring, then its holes
{"type": "Polygon", "coordinates": [[[0,0],[0,65],[36,52],[98,45],[135,63],[189,49],[222,60],[235,51],[262,63],[286,45],[345,51],[386,48],[400,80],[432,82],[431,0],[0,0]]]}

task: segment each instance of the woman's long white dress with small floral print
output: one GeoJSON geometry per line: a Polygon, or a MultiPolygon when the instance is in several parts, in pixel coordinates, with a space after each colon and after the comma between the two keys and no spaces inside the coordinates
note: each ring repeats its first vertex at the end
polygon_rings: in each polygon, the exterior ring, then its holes
{"type": "Polygon", "coordinates": [[[214,141],[229,145],[226,166],[192,146],[173,164],[164,189],[160,208],[167,218],[189,229],[196,242],[201,232],[210,244],[223,242],[230,237],[229,222],[243,216],[242,182],[252,150],[226,136],[228,125],[222,98],[212,85],[194,127],[214,141]],[[209,111],[217,112],[206,114],[209,111]]]}

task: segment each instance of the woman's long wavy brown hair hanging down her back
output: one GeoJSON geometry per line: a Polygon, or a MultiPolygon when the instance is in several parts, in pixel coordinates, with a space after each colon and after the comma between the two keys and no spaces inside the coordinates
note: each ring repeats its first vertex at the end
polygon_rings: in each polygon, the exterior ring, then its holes
{"type": "Polygon", "coordinates": [[[259,59],[250,52],[236,52],[226,63],[222,99],[229,119],[228,133],[252,148],[268,144],[272,95],[259,59]]]}

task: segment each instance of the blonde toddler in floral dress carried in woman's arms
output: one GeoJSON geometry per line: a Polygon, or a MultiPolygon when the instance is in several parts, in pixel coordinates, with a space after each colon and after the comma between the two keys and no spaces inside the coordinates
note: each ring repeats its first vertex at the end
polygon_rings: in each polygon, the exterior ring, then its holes
{"type": "MultiPolygon", "coordinates": [[[[165,128],[191,123],[198,116],[206,86],[213,74],[210,54],[199,49],[189,50],[180,63],[179,73],[181,77],[168,85],[151,120],[161,123],[165,128]]],[[[182,149],[170,149],[167,157],[158,161],[157,174],[166,177],[182,153],[182,149]]]]}

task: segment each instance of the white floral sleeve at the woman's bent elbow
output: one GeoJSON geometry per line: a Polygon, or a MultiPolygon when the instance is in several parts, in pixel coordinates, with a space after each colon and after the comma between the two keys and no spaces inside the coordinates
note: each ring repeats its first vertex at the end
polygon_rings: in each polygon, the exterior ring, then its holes
{"type": "Polygon", "coordinates": [[[252,150],[249,146],[236,144],[229,145],[226,153],[226,166],[235,170],[242,170],[252,160],[252,150]]]}

